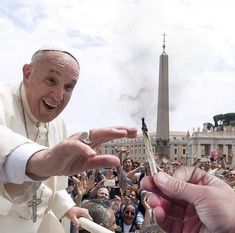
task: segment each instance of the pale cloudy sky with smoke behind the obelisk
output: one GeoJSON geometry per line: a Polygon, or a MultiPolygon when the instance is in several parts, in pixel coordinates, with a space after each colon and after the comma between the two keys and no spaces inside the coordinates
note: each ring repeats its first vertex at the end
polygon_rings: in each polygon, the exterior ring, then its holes
{"type": "Polygon", "coordinates": [[[81,66],[63,112],[70,133],[109,126],[156,131],[159,56],[169,56],[170,131],[235,112],[233,0],[2,0],[0,82],[44,45],[81,66]]]}

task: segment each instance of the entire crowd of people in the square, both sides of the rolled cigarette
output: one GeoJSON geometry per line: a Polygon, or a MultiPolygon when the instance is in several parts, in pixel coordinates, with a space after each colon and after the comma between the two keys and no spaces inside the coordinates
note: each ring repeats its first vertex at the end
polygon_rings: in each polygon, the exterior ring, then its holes
{"type": "MultiPolygon", "coordinates": [[[[162,159],[159,167],[160,171],[172,176],[177,168],[185,167],[184,159],[162,159]]],[[[193,167],[235,188],[235,170],[225,156],[195,157],[193,167]]],[[[67,191],[78,206],[84,207],[94,200],[99,200],[99,205],[103,202],[104,206],[108,202],[112,214],[107,215],[104,221],[110,219],[110,222],[97,223],[103,226],[111,224],[112,227],[108,228],[112,231],[127,233],[152,229],[151,232],[164,232],[153,220],[153,210],[148,204],[150,192],[141,188],[140,183],[145,176],[151,176],[148,163],[133,161],[128,155],[120,167],[92,169],[70,177],[67,191]]],[[[76,232],[78,230],[71,225],[71,233],[76,232]]]]}

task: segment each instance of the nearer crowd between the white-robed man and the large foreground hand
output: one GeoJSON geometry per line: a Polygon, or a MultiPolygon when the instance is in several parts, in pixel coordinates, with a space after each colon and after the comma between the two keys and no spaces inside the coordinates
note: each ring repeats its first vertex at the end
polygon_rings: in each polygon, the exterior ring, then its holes
{"type": "MultiPolygon", "coordinates": [[[[114,227],[109,229],[137,232],[153,223],[147,203],[149,193],[140,188],[145,175],[150,175],[149,166],[143,163],[133,168],[132,159],[127,157],[121,167],[92,169],[70,177],[67,191],[81,207],[94,200],[100,200],[99,204],[108,201],[115,219],[114,227]]],[[[71,233],[75,232],[78,230],[71,225],[71,233]]]]}

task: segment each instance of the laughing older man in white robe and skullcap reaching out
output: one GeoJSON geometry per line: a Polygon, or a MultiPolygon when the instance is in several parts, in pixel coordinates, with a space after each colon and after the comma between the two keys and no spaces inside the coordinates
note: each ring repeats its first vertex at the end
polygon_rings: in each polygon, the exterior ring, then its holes
{"type": "Polygon", "coordinates": [[[66,176],[118,166],[118,158],[97,156],[94,149],[108,140],[135,137],[136,129],[110,127],[67,136],[60,113],[80,72],[71,53],[40,49],[22,71],[20,84],[0,87],[0,225],[5,233],[49,233],[49,225],[59,233],[63,217],[76,227],[80,216],[90,218],[67,194],[66,176]]]}

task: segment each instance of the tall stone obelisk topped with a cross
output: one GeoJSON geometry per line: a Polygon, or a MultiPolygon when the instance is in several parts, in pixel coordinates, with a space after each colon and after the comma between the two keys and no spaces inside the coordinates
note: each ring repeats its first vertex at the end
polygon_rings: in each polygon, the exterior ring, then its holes
{"type": "Polygon", "coordinates": [[[169,158],[169,77],[168,55],[165,52],[165,33],[163,34],[163,52],[159,60],[159,84],[157,106],[156,151],[160,159],[169,158]]]}

